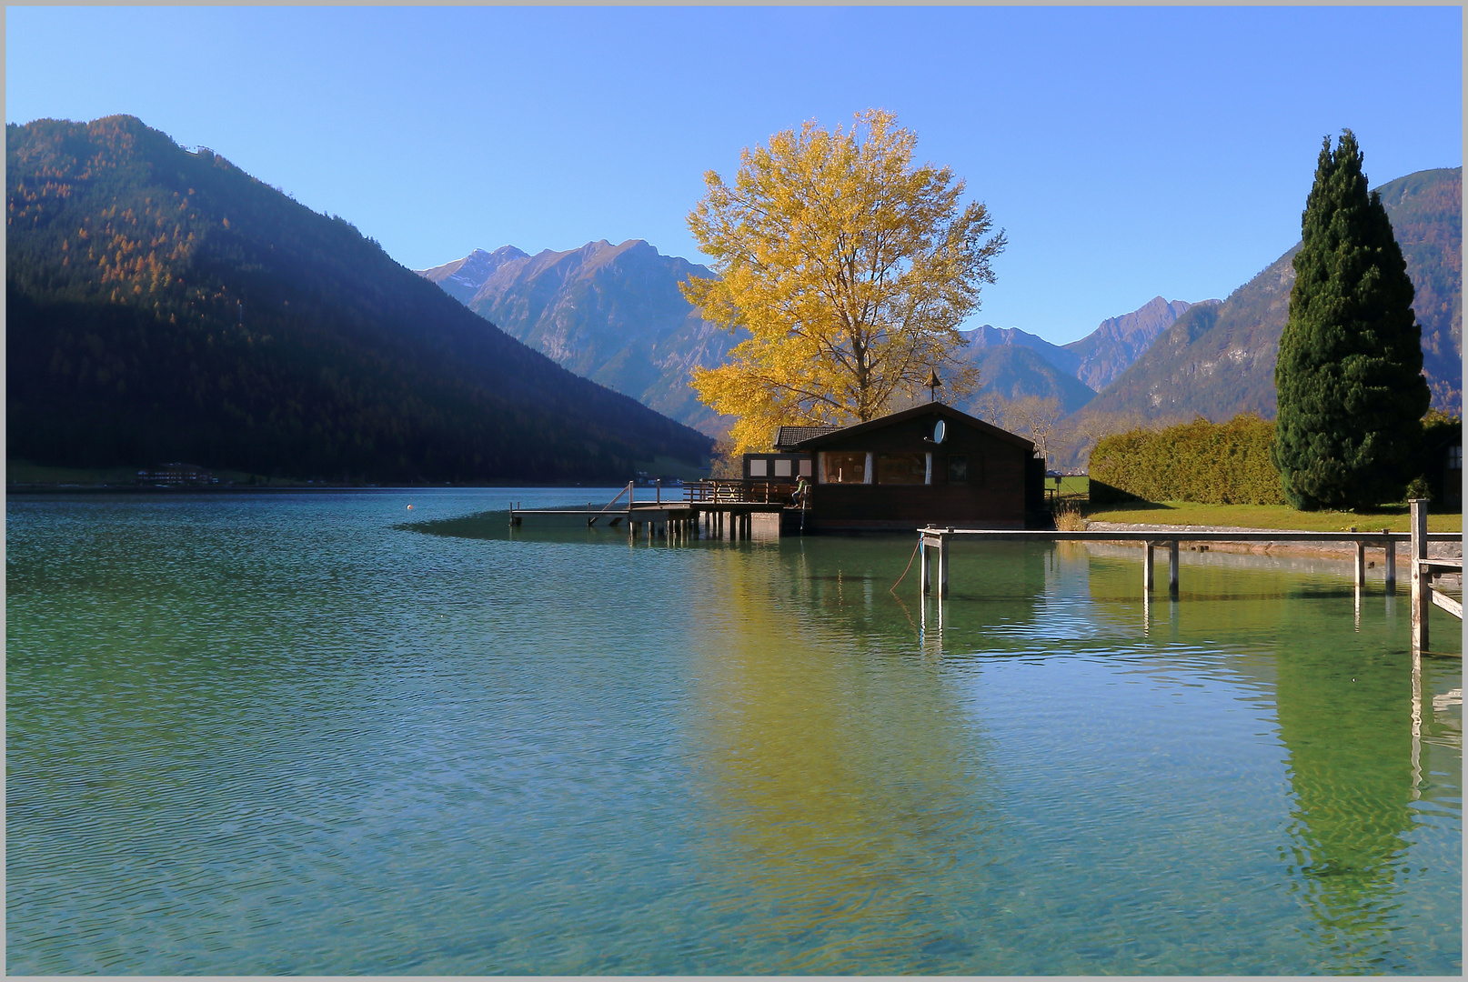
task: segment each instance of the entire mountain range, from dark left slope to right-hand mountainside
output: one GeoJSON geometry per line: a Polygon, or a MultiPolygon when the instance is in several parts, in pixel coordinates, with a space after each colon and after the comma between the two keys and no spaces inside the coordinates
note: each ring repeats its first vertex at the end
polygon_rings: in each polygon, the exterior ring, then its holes
{"type": "MultiPolygon", "coordinates": [[[[1433,404],[1461,414],[1462,169],[1378,192],[1417,289],[1433,404]]],[[[642,239],[504,247],[414,273],[345,219],[131,116],[9,125],[6,195],[15,458],[624,480],[659,457],[700,461],[727,424],[687,385],[740,339],[678,291],[712,273],[642,239]]],[[[1293,252],[1224,301],[1157,297],[1067,345],[985,324],[959,357],[979,368],[979,396],[1054,396],[1076,433],[1271,417],[1293,252]]]]}

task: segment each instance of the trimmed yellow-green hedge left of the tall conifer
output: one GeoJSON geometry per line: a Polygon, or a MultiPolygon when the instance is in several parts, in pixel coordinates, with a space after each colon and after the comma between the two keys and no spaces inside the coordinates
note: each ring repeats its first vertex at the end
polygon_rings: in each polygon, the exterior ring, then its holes
{"type": "Polygon", "coordinates": [[[1274,424],[1252,412],[1227,423],[1198,418],[1161,432],[1108,436],[1091,451],[1091,501],[1189,501],[1207,505],[1283,505],[1270,462],[1274,424]],[[1098,484],[1101,487],[1098,487],[1098,484]]]}

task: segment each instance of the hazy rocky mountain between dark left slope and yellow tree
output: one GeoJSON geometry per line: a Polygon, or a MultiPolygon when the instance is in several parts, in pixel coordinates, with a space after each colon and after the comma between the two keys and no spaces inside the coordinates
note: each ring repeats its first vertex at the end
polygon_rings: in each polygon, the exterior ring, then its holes
{"type": "Polygon", "coordinates": [[[474,250],[418,274],[570,371],[703,433],[727,429],[688,386],[694,365],[719,364],[740,341],[678,292],[688,277],[713,276],[706,267],[643,239],[600,239],[534,255],[474,250]]]}

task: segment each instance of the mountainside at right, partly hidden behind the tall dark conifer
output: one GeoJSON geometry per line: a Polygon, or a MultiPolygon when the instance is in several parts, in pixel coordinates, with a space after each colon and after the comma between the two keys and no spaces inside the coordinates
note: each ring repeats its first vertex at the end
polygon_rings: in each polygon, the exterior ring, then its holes
{"type": "MultiPolygon", "coordinates": [[[[1462,412],[1462,167],[1421,170],[1377,189],[1422,327],[1422,367],[1439,410],[1462,412]]],[[[1289,319],[1296,242],[1221,305],[1185,311],[1085,414],[1151,420],[1238,412],[1273,418],[1274,363],[1289,319]]]]}

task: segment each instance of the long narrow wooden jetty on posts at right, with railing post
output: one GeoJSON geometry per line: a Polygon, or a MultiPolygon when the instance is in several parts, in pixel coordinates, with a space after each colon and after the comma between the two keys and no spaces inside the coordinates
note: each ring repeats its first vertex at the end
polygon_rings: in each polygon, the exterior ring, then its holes
{"type": "Polygon", "coordinates": [[[1462,545],[1462,533],[1427,531],[1427,502],[1411,502],[1411,531],[1186,531],[1177,528],[1144,528],[1132,531],[1058,531],[1020,528],[937,528],[928,525],[918,530],[919,590],[925,594],[948,596],[948,549],[956,542],[1139,542],[1142,543],[1142,593],[1152,593],[1152,552],[1167,549],[1167,593],[1177,599],[1177,553],[1179,543],[1210,542],[1329,542],[1355,543],[1355,586],[1359,593],[1365,587],[1367,548],[1386,552],[1386,589],[1396,592],[1396,546],[1409,546],[1409,577],[1412,584],[1412,650],[1427,647],[1427,611],[1433,605],[1462,619],[1462,603],[1446,593],[1433,589],[1431,580],[1443,572],[1462,572],[1462,558],[1433,558],[1427,555],[1428,543],[1452,542],[1462,545]]]}

